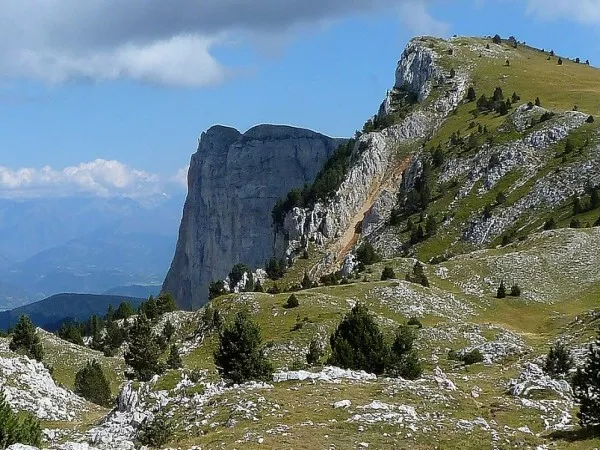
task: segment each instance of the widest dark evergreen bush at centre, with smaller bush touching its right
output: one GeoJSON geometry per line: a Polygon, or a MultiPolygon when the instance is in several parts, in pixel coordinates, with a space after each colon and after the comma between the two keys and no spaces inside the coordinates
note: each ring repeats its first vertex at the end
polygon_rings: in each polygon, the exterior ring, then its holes
{"type": "Polygon", "coordinates": [[[375,374],[385,370],[389,349],[366,306],[354,306],[331,334],[329,342],[329,364],[375,374]]]}

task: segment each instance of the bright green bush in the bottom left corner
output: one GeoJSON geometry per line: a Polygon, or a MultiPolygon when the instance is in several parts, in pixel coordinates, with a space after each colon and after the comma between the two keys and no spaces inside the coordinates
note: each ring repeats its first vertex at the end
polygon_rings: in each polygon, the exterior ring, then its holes
{"type": "Polygon", "coordinates": [[[0,391],[0,448],[12,444],[41,447],[42,428],[30,413],[15,413],[0,391]]]}

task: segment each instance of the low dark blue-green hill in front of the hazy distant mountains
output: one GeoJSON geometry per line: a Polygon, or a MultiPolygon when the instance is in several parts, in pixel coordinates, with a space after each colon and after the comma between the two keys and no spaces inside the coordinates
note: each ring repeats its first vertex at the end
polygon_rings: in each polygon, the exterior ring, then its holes
{"type": "Polygon", "coordinates": [[[39,302],[0,312],[0,330],[14,326],[19,317],[27,315],[36,326],[54,331],[66,320],[84,322],[94,314],[104,316],[110,305],[117,308],[121,302],[128,302],[136,308],[142,301],[143,298],[115,295],[53,295],[39,302]]]}

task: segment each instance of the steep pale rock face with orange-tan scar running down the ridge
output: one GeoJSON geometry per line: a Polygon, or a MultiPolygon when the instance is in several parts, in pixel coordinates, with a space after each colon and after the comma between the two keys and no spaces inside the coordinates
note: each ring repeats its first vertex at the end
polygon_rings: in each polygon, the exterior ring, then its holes
{"type": "MultiPolygon", "coordinates": [[[[339,246],[344,246],[348,244],[344,235],[351,233],[354,222],[362,234],[369,234],[389,217],[395,192],[386,189],[385,184],[393,178],[398,148],[434,133],[464,98],[468,87],[466,72],[458,70],[451,78],[436,64],[437,58],[426,40],[416,38],[408,44],[398,62],[394,90],[388,92],[379,115],[393,112],[392,96],[398,92],[414,95],[419,105],[400,123],[358,139],[353,164],[332,201],[317,203],[310,209],[294,208],[287,214],[276,238],[279,256],[291,257],[307,242],[325,246],[336,239],[339,246]],[[442,86],[443,92],[430,99],[434,84],[442,86]]],[[[321,269],[341,262],[335,257],[328,255],[321,269]]]]}

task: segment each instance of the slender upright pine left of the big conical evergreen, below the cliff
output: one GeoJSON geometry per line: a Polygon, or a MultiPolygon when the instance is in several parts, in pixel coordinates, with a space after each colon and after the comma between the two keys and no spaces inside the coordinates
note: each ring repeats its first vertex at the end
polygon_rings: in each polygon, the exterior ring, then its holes
{"type": "Polygon", "coordinates": [[[152,331],[150,321],[140,314],[129,330],[129,350],[125,353],[125,362],[133,369],[140,381],[149,381],[162,371],[159,358],[161,345],[152,331]]]}

